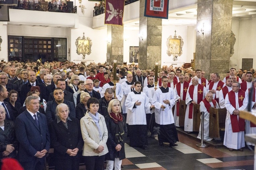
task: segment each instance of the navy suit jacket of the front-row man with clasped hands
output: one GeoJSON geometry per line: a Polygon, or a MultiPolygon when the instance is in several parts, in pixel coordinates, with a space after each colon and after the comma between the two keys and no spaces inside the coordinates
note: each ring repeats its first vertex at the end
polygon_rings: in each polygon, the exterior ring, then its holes
{"type": "Polygon", "coordinates": [[[37,112],[39,127],[33,117],[25,110],[15,121],[15,134],[19,142],[17,159],[19,162],[34,165],[36,161],[42,164],[45,157],[37,158],[34,155],[37,151],[50,149],[50,134],[47,126],[46,116],[37,112]]]}

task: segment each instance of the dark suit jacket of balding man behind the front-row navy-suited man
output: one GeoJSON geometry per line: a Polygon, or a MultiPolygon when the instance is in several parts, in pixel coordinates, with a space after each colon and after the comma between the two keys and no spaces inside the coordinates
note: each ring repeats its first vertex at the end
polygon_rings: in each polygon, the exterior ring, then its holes
{"type": "MultiPolygon", "coordinates": [[[[47,100],[48,98],[46,97],[46,89],[45,89],[45,86],[42,85],[42,84],[39,84],[37,80],[35,80],[35,86],[39,86],[40,88],[40,98],[43,98],[45,100],[47,100]]],[[[28,82],[27,84],[23,84],[21,86],[21,91],[19,92],[19,95],[20,95],[20,103],[23,104],[26,100],[26,97],[27,97],[27,93],[30,91],[31,89],[31,84],[30,82],[28,82]]]]}

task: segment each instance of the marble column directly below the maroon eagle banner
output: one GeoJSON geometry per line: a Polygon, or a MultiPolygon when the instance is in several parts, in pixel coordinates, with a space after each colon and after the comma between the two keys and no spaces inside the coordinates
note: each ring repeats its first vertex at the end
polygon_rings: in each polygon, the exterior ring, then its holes
{"type": "Polygon", "coordinates": [[[107,25],[107,64],[123,65],[123,26],[107,25]]]}

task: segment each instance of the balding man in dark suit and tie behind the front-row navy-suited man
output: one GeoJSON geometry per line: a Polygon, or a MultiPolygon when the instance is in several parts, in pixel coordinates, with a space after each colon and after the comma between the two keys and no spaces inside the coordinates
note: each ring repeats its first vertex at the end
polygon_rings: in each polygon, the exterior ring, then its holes
{"type": "Polygon", "coordinates": [[[21,104],[23,104],[25,102],[27,93],[30,91],[30,88],[32,86],[39,86],[40,98],[47,100],[45,86],[38,83],[38,81],[35,78],[35,72],[29,71],[28,72],[28,83],[23,84],[21,86],[21,91],[19,92],[21,104]]]}

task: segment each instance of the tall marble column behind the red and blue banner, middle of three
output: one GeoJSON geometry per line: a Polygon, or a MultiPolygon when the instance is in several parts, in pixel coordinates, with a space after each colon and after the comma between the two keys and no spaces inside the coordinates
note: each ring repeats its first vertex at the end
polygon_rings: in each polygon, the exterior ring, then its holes
{"type": "Polygon", "coordinates": [[[139,68],[161,68],[162,19],[144,17],[145,0],[140,0],[139,68]]]}

